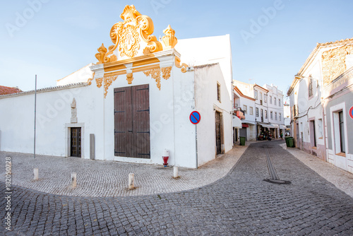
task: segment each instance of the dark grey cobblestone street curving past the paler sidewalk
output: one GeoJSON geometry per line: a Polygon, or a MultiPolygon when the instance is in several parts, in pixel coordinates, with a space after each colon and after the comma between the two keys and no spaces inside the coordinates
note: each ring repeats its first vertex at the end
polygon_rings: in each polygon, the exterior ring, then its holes
{"type": "Polygon", "coordinates": [[[222,179],[177,193],[73,197],[13,187],[5,235],[353,235],[353,199],[282,143],[251,144],[222,179]],[[264,181],[265,148],[291,184],[264,181]]]}

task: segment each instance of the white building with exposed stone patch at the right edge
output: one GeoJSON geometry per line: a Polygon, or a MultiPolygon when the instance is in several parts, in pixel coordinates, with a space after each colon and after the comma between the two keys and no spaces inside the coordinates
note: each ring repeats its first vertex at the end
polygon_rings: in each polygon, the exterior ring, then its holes
{"type": "Polygon", "coordinates": [[[319,43],[287,95],[297,148],[353,172],[353,39],[319,43]]]}

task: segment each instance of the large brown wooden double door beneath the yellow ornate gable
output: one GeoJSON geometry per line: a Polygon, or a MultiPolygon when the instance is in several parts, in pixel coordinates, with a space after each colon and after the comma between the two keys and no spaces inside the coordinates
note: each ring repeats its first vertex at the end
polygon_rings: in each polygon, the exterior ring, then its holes
{"type": "Polygon", "coordinates": [[[150,158],[149,85],[114,88],[114,153],[150,158]]]}

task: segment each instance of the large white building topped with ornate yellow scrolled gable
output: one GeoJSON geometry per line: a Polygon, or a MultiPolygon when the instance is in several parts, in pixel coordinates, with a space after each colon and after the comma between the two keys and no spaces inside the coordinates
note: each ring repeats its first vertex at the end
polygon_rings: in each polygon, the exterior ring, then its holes
{"type": "MultiPolygon", "coordinates": [[[[96,64],[37,90],[37,154],[162,164],[167,149],[169,165],[196,168],[229,151],[229,35],[178,45],[170,25],[157,40],[152,20],[133,5],[121,19],[96,64]],[[185,63],[191,56],[193,66],[185,63]]],[[[0,151],[32,153],[34,97],[0,96],[0,151]]]]}

